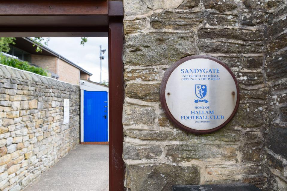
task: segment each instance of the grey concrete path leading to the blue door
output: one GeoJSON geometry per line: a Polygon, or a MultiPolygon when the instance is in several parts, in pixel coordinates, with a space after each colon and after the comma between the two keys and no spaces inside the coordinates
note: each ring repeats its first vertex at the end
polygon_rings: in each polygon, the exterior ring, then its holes
{"type": "Polygon", "coordinates": [[[109,146],[78,145],[24,191],[108,191],[109,146]]]}

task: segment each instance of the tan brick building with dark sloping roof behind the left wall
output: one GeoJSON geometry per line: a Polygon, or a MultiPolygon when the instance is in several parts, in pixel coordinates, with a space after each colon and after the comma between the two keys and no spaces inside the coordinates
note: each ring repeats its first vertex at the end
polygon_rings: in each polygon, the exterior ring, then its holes
{"type": "Polygon", "coordinates": [[[90,76],[92,76],[92,73],[48,47],[41,46],[42,52],[36,52],[36,46],[33,47],[34,43],[29,38],[16,38],[15,43],[11,46],[8,52],[9,55],[16,56],[20,60],[48,70],[52,78],[78,85],[80,79],[89,80],[90,76]]]}

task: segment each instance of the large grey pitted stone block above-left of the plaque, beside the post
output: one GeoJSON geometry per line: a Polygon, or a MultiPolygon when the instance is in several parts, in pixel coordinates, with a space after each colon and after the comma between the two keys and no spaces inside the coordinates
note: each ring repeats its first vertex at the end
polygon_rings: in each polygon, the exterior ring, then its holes
{"type": "Polygon", "coordinates": [[[126,65],[171,65],[195,54],[193,33],[144,33],[125,37],[126,65]]]}

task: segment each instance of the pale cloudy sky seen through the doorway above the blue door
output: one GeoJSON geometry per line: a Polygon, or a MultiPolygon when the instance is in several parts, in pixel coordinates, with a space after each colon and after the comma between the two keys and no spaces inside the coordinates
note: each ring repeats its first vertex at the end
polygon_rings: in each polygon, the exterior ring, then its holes
{"type": "Polygon", "coordinates": [[[102,60],[102,81],[108,81],[108,38],[89,37],[85,46],[80,44],[81,38],[51,37],[48,46],[78,66],[92,73],[90,80],[100,82],[100,45],[104,53],[102,60]]]}

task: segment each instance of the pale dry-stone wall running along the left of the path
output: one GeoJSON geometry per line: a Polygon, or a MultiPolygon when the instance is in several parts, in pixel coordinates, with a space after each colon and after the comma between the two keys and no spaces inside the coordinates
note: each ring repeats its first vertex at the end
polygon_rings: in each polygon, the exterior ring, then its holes
{"type": "Polygon", "coordinates": [[[0,190],[23,189],[73,149],[79,116],[79,86],[0,65],[0,190]]]}

